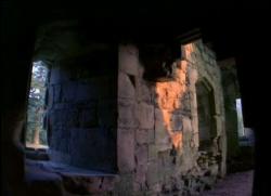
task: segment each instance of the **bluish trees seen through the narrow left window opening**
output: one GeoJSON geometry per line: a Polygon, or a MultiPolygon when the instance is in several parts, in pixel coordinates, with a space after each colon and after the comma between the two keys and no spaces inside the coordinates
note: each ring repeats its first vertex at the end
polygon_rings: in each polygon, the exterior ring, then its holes
{"type": "Polygon", "coordinates": [[[26,144],[47,145],[47,131],[42,128],[47,73],[42,62],[34,63],[28,96],[26,144]]]}

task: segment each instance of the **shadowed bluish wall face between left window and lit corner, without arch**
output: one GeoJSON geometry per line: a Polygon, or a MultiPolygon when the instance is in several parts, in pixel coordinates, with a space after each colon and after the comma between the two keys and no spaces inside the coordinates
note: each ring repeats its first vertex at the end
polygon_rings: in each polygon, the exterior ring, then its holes
{"type": "Polygon", "coordinates": [[[48,87],[51,160],[116,170],[117,58],[112,45],[56,62],[48,87]]]}

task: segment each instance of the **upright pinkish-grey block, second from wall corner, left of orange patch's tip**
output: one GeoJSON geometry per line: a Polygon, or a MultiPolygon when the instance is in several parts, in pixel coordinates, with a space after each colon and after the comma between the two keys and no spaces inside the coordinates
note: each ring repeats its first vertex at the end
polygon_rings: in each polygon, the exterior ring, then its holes
{"type": "Polygon", "coordinates": [[[140,103],[138,107],[140,128],[154,129],[154,106],[146,103],[140,103]]]}

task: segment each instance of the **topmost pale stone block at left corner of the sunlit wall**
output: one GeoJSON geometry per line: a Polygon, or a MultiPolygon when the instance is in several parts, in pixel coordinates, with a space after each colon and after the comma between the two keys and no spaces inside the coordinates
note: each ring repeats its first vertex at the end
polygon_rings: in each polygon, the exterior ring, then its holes
{"type": "Polygon", "coordinates": [[[139,58],[138,49],[133,45],[120,45],[118,52],[119,70],[138,76],[139,58]]]}

